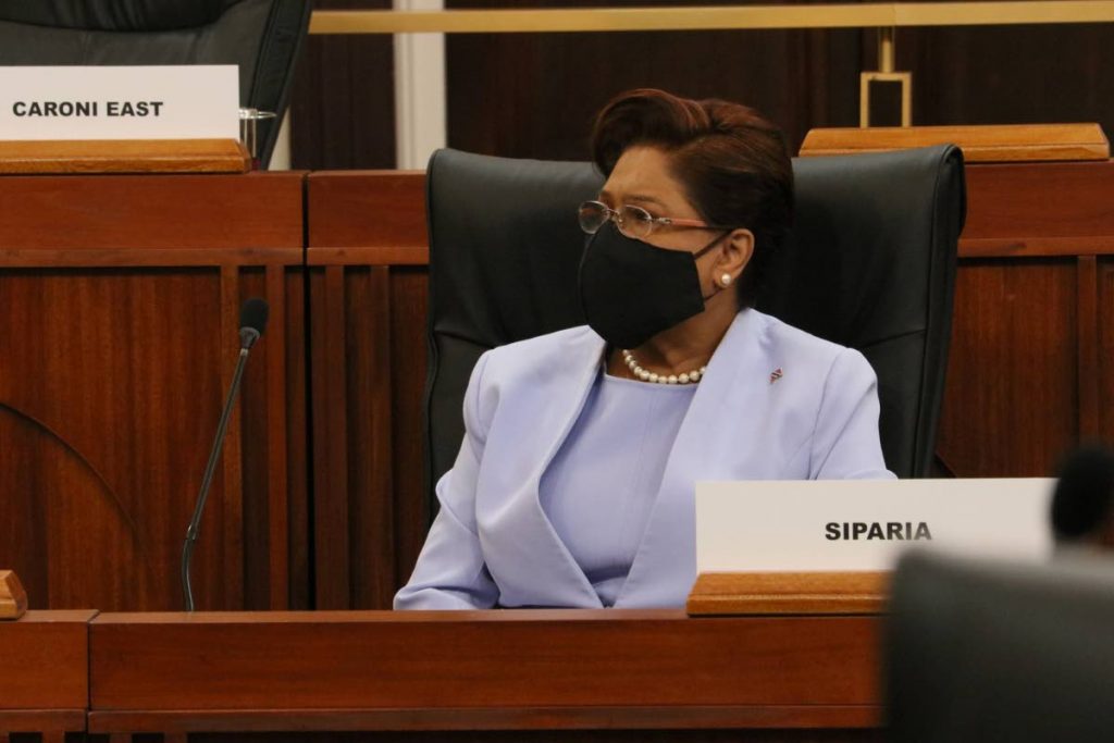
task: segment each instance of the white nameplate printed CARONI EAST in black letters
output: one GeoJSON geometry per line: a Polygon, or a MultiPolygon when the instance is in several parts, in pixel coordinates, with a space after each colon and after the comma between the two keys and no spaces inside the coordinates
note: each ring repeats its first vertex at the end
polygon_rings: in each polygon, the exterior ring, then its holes
{"type": "Polygon", "coordinates": [[[0,139],[238,139],[235,65],[0,67],[0,139]]]}

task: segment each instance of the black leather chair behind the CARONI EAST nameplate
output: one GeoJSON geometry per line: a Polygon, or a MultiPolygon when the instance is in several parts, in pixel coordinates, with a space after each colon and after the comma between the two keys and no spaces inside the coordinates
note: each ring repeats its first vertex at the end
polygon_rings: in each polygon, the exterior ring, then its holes
{"type": "Polygon", "coordinates": [[[290,99],[311,0],[0,0],[0,65],[237,65],[263,167],[290,99]]]}

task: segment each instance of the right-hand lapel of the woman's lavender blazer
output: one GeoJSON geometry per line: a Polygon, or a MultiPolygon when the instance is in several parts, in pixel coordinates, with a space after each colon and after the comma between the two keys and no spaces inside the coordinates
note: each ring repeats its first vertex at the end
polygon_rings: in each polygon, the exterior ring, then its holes
{"type": "Polygon", "coordinates": [[[732,470],[741,461],[740,449],[761,450],[747,439],[759,433],[753,402],[764,393],[763,384],[755,380],[770,373],[763,329],[762,315],[743,310],[709,362],[670,451],[646,531],[616,606],[684,604],[696,579],[693,473],[701,480],[736,479],[732,470]]]}

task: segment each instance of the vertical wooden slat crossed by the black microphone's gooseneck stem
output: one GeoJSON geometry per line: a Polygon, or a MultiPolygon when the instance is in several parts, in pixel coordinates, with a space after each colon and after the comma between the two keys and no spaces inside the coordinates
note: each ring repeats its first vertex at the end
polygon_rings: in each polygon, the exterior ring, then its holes
{"type": "MultiPolygon", "coordinates": [[[[221,266],[221,348],[223,395],[232,384],[240,353],[240,271],[235,265],[221,266]]],[[[222,402],[223,402],[222,395],[222,402]]],[[[240,409],[236,404],[228,420],[228,433],[221,453],[221,479],[224,511],[224,594],[219,604],[225,609],[244,605],[244,504],[240,409]]]]}

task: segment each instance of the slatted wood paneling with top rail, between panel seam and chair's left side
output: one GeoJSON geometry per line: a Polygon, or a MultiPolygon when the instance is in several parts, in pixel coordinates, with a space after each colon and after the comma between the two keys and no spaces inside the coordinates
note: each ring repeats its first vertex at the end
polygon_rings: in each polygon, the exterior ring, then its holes
{"type": "Polygon", "coordinates": [[[424,538],[424,177],[314,174],[310,209],[319,608],[389,608],[424,538]]]}

